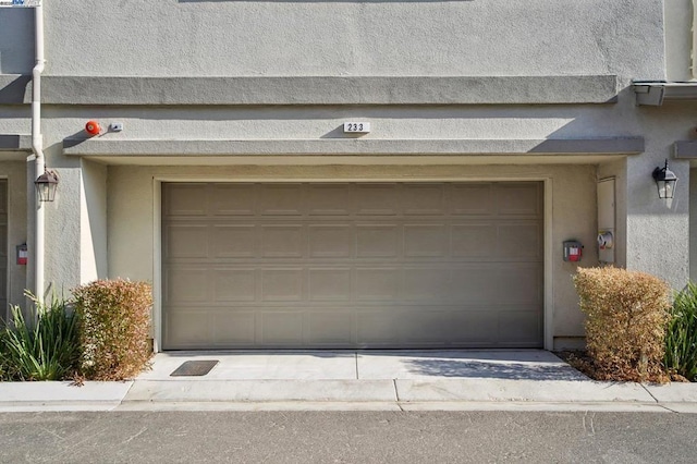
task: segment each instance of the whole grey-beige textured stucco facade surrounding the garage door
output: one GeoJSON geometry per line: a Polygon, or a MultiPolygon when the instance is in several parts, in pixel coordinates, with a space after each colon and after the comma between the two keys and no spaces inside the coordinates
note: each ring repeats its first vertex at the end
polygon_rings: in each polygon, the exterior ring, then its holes
{"type": "MultiPolygon", "coordinates": [[[[63,0],[44,10],[42,132],[60,174],[46,207],[46,281],[59,291],[152,281],[156,340],[162,182],[543,181],[548,349],[583,337],[571,278],[598,265],[600,179],[615,179],[615,265],[675,289],[690,276],[694,161],[673,149],[693,137],[695,103],[637,106],[632,86],[692,77],[687,0],[63,0]],[[124,130],[88,138],[87,120],[124,130]],[[345,121],[372,131],[345,134],[345,121]],[[651,179],[664,159],[680,178],[672,202],[651,179]],[[579,264],[562,259],[570,239],[585,245],[579,264]]],[[[0,10],[0,155],[23,207],[12,249],[34,241],[21,169],[33,24],[32,10],[0,10]]],[[[11,298],[17,282],[32,288],[32,270],[11,272],[11,298]]]]}

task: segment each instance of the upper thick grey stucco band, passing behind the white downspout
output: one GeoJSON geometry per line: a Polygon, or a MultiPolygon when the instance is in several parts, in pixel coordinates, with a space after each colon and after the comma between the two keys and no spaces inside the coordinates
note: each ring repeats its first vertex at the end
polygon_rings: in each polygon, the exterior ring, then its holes
{"type": "MultiPolygon", "coordinates": [[[[617,98],[615,75],[44,76],[47,105],[571,105],[617,98]]],[[[0,103],[30,102],[30,76],[0,75],[0,103]]]]}

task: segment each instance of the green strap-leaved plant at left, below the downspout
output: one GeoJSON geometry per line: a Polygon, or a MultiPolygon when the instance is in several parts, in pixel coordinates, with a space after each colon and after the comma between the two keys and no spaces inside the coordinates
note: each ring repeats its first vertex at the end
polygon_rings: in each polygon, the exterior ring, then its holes
{"type": "Polygon", "coordinates": [[[10,323],[0,329],[0,377],[4,380],[62,380],[75,376],[80,356],[77,317],[63,300],[36,306],[36,321],[12,308],[10,323]]]}

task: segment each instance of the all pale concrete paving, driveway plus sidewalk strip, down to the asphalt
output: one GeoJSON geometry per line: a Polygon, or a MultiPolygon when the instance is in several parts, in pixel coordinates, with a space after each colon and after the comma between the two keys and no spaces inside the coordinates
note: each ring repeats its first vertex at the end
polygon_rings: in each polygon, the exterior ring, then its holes
{"type": "Polygon", "coordinates": [[[597,382],[538,350],[171,352],[129,382],[0,382],[0,412],[112,410],[697,413],[697,384],[597,382]],[[188,361],[218,363],[171,376],[188,361]]]}

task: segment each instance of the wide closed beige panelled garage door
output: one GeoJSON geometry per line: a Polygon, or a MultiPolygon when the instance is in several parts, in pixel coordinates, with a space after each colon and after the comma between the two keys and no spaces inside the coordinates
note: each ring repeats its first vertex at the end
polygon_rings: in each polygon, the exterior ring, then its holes
{"type": "Polygon", "coordinates": [[[542,185],[163,185],[163,347],[542,345],[542,185]]]}

